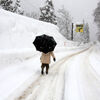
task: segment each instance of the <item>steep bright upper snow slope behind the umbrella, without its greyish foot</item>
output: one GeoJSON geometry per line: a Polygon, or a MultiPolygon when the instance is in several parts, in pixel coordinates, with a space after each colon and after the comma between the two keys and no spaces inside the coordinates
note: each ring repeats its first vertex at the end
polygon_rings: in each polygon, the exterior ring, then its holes
{"type": "Polygon", "coordinates": [[[58,45],[66,41],[52,24],[0,9],[0,49],[33,48],[34,36],[40,34],[53,36],[58,45]]]}

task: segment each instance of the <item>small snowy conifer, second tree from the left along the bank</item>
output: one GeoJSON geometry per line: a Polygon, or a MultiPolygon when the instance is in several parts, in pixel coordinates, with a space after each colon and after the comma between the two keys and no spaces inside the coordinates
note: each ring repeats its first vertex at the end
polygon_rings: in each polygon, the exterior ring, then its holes
{"type": "Polygon", "coordinates": [[[16,0],[14,8],[13,8],[13,12],[23,15],[24,11],[21,8],[20,0],[16,0]]]}

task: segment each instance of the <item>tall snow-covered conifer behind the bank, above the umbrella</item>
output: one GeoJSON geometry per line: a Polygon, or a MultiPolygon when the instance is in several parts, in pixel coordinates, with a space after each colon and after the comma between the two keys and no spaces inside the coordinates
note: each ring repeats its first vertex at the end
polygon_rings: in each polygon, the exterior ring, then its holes
{"type": "Polygon", "coordinates": [[[52,0],[46,0],[46,5],[40,8],[41,15],[39,20],[57,24],[52,0]]]}

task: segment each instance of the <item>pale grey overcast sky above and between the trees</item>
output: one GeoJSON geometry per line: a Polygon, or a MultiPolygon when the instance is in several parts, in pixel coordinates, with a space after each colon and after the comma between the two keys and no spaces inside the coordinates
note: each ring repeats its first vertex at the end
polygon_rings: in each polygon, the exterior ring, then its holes
{"type": "MultiPolygon", "coordinates": [[[[39,8],[46,0],[22,0],[25,3],[25,8],[30,11],[39,8]]],[[[97,27],[93,22],[93,11],[99,0],[52,0],[55,9],[61,8],[64,5],[70,15],[73,17],[73,22],[82,22],[83,19],[89,23],[91,39],[96,38],[97,27]]]]}

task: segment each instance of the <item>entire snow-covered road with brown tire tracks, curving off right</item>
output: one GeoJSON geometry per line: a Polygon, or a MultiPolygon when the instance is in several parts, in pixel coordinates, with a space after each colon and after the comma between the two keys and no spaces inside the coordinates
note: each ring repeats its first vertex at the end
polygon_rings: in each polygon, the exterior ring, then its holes
{"type": "Polygon", "coordinates": [[[100,78],[89,62],[93,47],[64,57],[16,100],[100,100],[100,78]]]}

